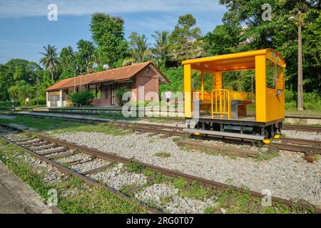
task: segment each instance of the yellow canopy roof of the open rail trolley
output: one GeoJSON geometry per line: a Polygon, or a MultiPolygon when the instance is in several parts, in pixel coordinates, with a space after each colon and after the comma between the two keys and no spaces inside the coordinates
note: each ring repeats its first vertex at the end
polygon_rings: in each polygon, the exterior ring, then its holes
{"type": "Polygon", "coordinates": [[[207,58],[195,58],[183,61],[183,65],[190,64],[191,68],[195,70],[208,72],[249,70],[255,69],[255,56],[263,55],[270,58],[272,61],[275,61],[280,66],[285,67],[285,61],[282,55],[273,49],[246,51],[207,58]]]}

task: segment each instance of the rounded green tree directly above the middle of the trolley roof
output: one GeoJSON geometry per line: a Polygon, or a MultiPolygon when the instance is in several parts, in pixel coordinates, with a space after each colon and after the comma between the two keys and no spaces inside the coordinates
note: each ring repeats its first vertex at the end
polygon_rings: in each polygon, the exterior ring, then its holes
{"type": "Polygon", "coordinates": [[[220,25],[204,37],[205,50],[208,56],[234,53],[240,50],[242,27],[220,25]]]}

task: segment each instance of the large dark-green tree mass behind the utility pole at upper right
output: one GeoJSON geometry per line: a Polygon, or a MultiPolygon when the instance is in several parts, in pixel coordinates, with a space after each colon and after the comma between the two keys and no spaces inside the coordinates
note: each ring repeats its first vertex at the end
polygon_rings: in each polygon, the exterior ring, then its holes
{"type": "Polygon", "coordinates": [[[320,39],[313,31],[320,31],[317,18],[320,16],[321,4],[315,0],[277,1],[277,0],[220,0],[220,4],[228,11],[223,17],[227,26],[241,26],[243,38],[250,42],[245,46],[247,50],[261,48],[275,48],[282,53],[287,63],[285,82],[287,89],[297,90],[297,25],[289,21],[290,16],[302,11],[305,26],[302,28],[303,43],[303,83],[305,91],[317,90],[321,93],[320,81],[320,39]],[[263,21],[263,4],[272,6],[272,21],[263,21]],[[312,24],[315,27],[312,28],[312,24]]]}

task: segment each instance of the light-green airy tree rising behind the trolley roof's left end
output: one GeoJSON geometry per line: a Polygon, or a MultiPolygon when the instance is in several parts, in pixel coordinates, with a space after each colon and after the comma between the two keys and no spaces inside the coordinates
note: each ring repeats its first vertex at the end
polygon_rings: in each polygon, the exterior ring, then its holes
{"type": "Polygon", "coordinates": [[[179,61],[200,56],[203,53],[200,42],[200,28],[192,14],[180,16],[178,24],[169,36],[170,48],[179,61]]]}

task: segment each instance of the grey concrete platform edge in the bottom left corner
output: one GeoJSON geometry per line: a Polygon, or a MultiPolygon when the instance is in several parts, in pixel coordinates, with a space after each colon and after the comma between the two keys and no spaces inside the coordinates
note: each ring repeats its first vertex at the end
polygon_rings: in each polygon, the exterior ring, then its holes
{"type": "Polygon", "coordinates": [[[0,161],[0,214],[61,214],[0,161]]]}

